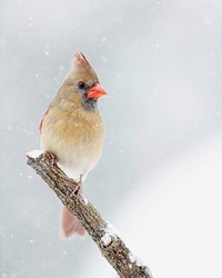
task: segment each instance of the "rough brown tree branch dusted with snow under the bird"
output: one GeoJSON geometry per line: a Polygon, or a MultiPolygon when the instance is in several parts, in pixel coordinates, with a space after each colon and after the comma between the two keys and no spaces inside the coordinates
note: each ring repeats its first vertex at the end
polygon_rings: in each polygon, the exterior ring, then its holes
{"type": "Polygon", "coordinates": [[[93,205],[82,195],[72,193],[77,183],[58,167],[57,158],[52,153],[44,152],[33,157],[30,152],[27,157],[27,163],[41,176],[62,203],[80,220],[120,277],[152,278],[149,268],[131,254],[112,226],[102,219],[93,205]]]}

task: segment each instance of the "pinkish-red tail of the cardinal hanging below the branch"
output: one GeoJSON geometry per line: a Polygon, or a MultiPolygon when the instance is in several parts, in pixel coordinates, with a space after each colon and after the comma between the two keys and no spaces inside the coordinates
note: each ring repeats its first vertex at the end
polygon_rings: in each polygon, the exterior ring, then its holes
{"type": "Polygon", "coordinates": [[[59,235],[61,238],[70,238],[75,232],[80,236],[84,236],[85,229],[77,217],[73,216],[68,208],[62,206],[59,235]]]}

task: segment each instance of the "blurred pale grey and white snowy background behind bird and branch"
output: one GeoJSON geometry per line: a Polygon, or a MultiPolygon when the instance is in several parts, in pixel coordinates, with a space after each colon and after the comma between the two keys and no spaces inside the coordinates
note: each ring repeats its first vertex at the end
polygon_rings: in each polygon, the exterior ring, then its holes
{"type": "Polygon", "coordinates": [[[85,197],[155,278],[222,277],[222,3],[1,0],[0,277],[117,277],[26,165],[81,50],[108,97],[85,197]]]}

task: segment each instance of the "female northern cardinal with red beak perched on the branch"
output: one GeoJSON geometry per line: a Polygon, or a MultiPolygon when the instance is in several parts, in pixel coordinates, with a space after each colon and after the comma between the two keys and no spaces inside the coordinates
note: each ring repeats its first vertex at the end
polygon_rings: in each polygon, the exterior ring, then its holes
{"type": "MultiPolygon", "coordinates": [[[[72,67],[40,122],[41,149],[54,153],[62,170],[75,181],[85,179],[98,163],[103,146],[103,122],[97,107],[107,95],[82,53],[72,67]]],[[[70,237],[85,230],[62,206],[60,235],[70,237]]]]}

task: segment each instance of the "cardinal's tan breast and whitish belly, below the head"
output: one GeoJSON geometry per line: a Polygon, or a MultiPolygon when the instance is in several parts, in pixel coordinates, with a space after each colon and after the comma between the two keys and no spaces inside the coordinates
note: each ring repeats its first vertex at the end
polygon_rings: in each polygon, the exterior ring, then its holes
{"type": "Polygon", "coordinates": [[[103,123],[99,112],[82,108],[51,108],[43,120],[41,148],[54,153],[65,173],[74,180],[83,178],[100,159],[103,123]],[[71,166],[71,167],[70,167],[71,166]]]}

